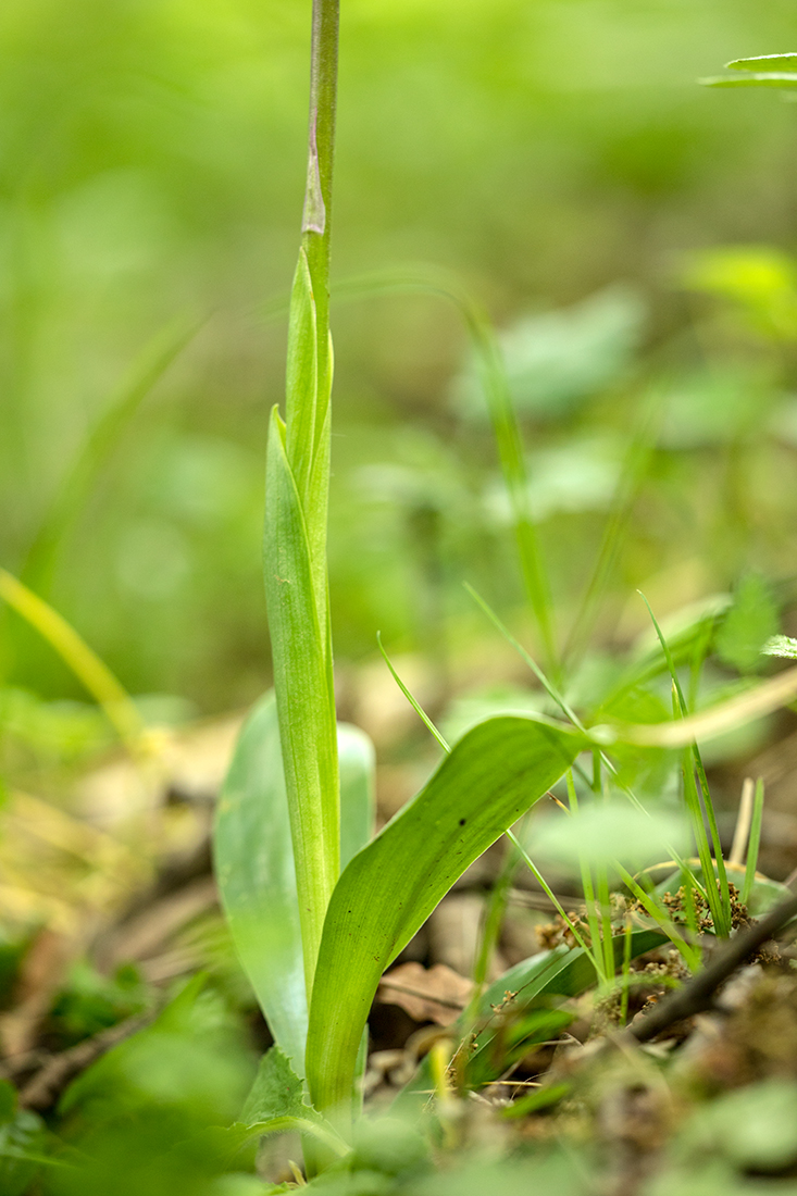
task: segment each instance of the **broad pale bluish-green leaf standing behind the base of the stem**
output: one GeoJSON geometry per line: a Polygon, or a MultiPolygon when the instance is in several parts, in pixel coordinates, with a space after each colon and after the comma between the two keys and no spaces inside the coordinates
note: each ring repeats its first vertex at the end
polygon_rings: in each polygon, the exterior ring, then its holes
{"type": "MultiPolygon", "coordinates": [[[[341,856],[373,834],[373,746],[337,727],[341,856]]],[[[255,706],[224,782],[214,828],[215,874],[238,958],[274,1039],[304,1074],[308,1005],[285,774],[273,692],[255,706]]]]}

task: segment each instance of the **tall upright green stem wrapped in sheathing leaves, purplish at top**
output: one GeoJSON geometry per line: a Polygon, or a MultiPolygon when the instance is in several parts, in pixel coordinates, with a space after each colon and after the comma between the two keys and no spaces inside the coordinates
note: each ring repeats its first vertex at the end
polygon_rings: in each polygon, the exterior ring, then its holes
{"type": "Polygon", "coordinates": [[[314,0],[308,182],[291,299],[285,423],[274,410],[266,470],[266,596],[308,1002],[327,907],[340,875],[327,575],[333,373],[329,233],[337,33],[339,0],[314,0]]]}

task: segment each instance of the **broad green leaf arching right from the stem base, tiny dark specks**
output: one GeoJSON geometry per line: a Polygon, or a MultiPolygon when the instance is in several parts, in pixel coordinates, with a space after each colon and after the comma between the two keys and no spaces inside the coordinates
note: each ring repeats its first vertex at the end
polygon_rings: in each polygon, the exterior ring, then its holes
{"type": "Polygon", "coordinates": [[[330,902],[310,1007],[317,1107],[343,1107],[383,970],[467,867],[571,765],[584,739],[546,721],[489,719],[351,861],[330,902]]]}

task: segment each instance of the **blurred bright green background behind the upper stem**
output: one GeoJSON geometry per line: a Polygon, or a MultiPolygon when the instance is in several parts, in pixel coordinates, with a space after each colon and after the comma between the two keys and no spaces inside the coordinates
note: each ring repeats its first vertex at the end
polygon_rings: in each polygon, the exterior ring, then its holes
{"type": "MultiPolygon", "coordinates": [[[[0,8],[0,565],[133,694],[197,712],[269,678],[309,22],[310,0],[0,8]]],[[[696,85],[793,43],[786,0],[342,0],[334,277],[433,263],[488,307],[562,635],[617,486],[598,639],[638,585],[665,614],[793,572],[797,109],[696,85]]],[[[337,655],[378,628],[456,647],[462,579],[522,602],[466,334],[401,289],[341,298],[334,329],[337,655]]],[[[6,716],[84,697],[0,617],[6,716]]]]}

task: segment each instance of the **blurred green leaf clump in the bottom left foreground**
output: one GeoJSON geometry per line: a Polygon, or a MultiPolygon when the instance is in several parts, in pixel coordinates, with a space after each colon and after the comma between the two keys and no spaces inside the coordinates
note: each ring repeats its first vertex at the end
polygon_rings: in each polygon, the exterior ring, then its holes
{"type": "Polygon", "coordinates": [[[255,1072],[241,1026],[197,976],[69,1086],[48,1196],[211,1196],[251,1159],[226,1127],[255,1072]]]}

